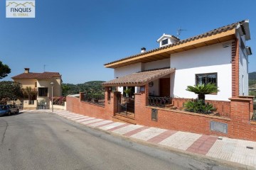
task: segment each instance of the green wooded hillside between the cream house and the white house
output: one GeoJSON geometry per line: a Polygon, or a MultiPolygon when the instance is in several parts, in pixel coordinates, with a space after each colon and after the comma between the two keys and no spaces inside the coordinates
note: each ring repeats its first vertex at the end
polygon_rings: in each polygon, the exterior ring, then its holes
{"type": "Polygon", "coordinates": [[[79,92],[103,95],[104,89],[101,84],[104,82],[105,81],[87,81],[83,84],[63,84],[63,96],[79,94],[79,92]]]}

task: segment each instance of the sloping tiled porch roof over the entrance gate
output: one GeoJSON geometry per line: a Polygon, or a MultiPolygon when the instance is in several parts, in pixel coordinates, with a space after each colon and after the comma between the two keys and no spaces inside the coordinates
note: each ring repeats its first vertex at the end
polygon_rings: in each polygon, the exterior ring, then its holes
{"type": "Polygon", "coordinates": [[[124,77],[119,77],[118,79],[107,81],[105,83],[102,83],[102,85],[103,86],[143,86],[149,83],[150,81],[154,81],[156,79],[164,77],[167,74],[170,74],[172,72],[175,72],[175,68],[157,69],[157,70],[146,71],[146,72],[138,72],[138,73],[129,74],[124,77]]]}

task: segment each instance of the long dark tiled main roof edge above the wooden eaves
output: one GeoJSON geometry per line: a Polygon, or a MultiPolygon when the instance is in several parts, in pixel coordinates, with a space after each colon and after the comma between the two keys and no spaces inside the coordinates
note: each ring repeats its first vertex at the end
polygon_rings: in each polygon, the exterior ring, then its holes
{"type": "MultiPolygon", "coordinates": [[[[120,60],[116,60],[114,62],[109,62],[109,63],[104,64],[104,65],[113,64],[115,62],[121,62],[123,60],[132,59],[134,57],[138,57],[138,56],[141,56],[141,55],[146,55],[146,54],[149,54],[151,52],[156,52],[156,51],[163,50],[163,49],[166,49],[166,48],[169,48],[169,47],[174,47],[176,45],[181,45],[181,44],[183,44],[185,42],[190,42],[190,41],[197,40],[197,39],[200,39],[200,38],[206,38],[206,37],[209,37],[211,35],[215,35],[215,34],[218,34],[218,33],[223,33],[223,32],[228,31],[228,30],[233,30],[234,28],[236,28],[238,26],[238,24],[241,24],[241,26],[242,26],[242,23],[245,23],[245,21],[240,21],[240,22],[237,22],[237,23],[232,23],[232,24],[230,24],[228,26],[223,26],[223,27],[220,27],[220,28],[216,28],[216,29],[210,30],[210,31],[208,31],[206,33],[203,33],[203,34],[200,34],[200,35],[196,35],[196,36],[193,36],[191,38],[187,38],[185,40],[179,40],[178,42],[175,42],[174,44],[166,45],[164,47],[159,47],[159,48],[156,48],[154,50],[149,50],[149,51],[146,51],[146,52],[143,52],[143,53],[139,53],[137,55],[132,55],[130,57],[125,57],[125,58],[122,58],[120,60]]],[[[245,33],[245,29],[243,28],[243,26],[242,26],[242,31],[243,31],[244,34],[246,34],[245,33]]]]}

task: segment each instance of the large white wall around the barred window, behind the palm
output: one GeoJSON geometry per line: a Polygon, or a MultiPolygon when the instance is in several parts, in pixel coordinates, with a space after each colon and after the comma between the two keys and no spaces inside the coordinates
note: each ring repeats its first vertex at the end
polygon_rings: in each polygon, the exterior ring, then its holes
{"type": "Polygon", "coordinates": [[[187,86],[196,84],[196,74],[217,72],[220,92],[206,95],[206,99],[228,101],[232,96],[231,42],[229,47],[223,43],[171,55],[171,68],[176,68],[171,74],[171,96],[197,98],[186,91],[187,86]]]}

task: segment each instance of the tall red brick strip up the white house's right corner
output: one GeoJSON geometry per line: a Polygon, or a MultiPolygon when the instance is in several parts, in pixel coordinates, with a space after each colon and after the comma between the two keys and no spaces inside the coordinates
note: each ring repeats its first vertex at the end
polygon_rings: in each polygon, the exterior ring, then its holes
{"type": "Polygon", "coordinates": [[[239,96],[239,41],[232,42],[232,97],[239,96]]]}

